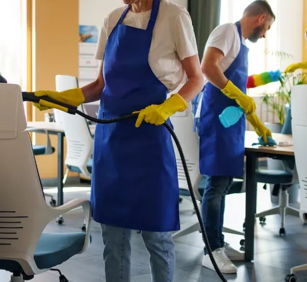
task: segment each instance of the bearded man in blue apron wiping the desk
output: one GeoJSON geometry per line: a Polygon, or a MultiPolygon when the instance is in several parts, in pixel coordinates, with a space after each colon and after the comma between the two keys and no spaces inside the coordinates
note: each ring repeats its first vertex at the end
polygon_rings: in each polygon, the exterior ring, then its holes
{"type": "MultiPolygon", "coordinates": [[[[241,106],[249,117],[255,102],[246,94],[248,48],[245,39],[256,42],[265,37],[275,20],[266,1],[254,1],[235,24],[218,26],[211,33],[205,48],[202,70],[207,79],[203,91],[200,116],[200,170],[208,176],[202,201],[202,215],[215,261],[224,273],[236,273],[232,260],[244,254],[224,242],[223,218],[225,196],[234,177],[244,175],[244,139],[246,115],[225,128],[218,115],[228,106],[241,106]]],[[[261,126],[261,135],[270,135],[261,126]]],[[[203,266],[214,270],[205,248],[203,266]]]]}

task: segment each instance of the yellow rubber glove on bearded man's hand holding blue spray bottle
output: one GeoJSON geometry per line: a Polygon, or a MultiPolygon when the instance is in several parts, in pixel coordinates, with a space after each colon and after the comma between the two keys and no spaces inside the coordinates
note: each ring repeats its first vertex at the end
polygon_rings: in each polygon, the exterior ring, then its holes
{"type": "Polygon", "coordinates": [[[245,114],[252,114],[256,111],[256,103],[252,97],[245,95],[241,90],[235,86],[232,81],[228,80],[222,92],[229,97],[234,99],[240,107],[242,107],[245,114]]]}

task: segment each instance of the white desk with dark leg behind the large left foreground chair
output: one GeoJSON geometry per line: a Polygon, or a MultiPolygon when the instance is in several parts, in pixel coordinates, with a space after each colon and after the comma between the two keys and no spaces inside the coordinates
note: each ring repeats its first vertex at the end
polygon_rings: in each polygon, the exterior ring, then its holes
{"type": "MultiPolygon", "coordinates": [[[[95,125],[89,125],[90,132],[94,136],[95,125]]],[[[28,122],[28,132],[43,133],[58,136],[58,173],[57,173],[57,186],[58,186],[58,206],[63,205],[63,177],[64,177],[64,128],[61,123],[58,122],[45,122],[45,121],[34,121],[28,122]]]]}

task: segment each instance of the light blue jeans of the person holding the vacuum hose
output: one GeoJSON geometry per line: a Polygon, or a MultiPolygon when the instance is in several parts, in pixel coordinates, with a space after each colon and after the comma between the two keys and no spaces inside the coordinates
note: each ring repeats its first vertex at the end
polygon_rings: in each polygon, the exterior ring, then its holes
{"type": "MultiPolygon", "coordinates": [[[[106,282],[130,282],[130,229],[101,224],[106,282]]],[[[141,233],[149,252],[152,282],[173,282],[175,248],[171,232],[141,233]]]]}

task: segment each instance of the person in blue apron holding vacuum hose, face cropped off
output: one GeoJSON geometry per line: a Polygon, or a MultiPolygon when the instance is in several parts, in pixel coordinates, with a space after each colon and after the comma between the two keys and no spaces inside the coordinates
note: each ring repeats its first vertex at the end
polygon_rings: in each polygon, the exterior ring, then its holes
{"type": "Polygon", "coordinates": [[[104,21],[98,79],[82,89],[36,95],[75,105],[100,99],[100,119],[139,112],[137,121],[96,125],[93,219],[101,224],[107,282],[130,281],[131,230],[142,230],[152,281],[170,282],[171,232],[180,229],[179,187],[171,136],[161,124],[186,109],[204,78],[186,9],[165,0],[124,3],[129,5],[104,21]],[[179,93],[167,99],[181,83],[179,93]]]}

